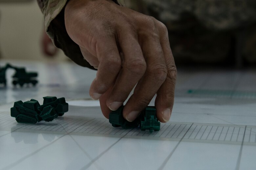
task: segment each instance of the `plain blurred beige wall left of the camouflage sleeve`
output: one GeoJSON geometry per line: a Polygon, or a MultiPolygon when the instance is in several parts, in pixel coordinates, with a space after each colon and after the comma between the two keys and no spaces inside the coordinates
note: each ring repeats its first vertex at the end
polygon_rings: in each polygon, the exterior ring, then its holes
{"type": "MultiPolygon", "coordinates": [[[[0,0],[2,59],[69,60],[61,50],[56,52],[55,57],[48,57],[43,52],[44,29],[43,15],[36,0],[0,0]]],[[[51,51],[52,47],[49,48],[51,51]]]]}

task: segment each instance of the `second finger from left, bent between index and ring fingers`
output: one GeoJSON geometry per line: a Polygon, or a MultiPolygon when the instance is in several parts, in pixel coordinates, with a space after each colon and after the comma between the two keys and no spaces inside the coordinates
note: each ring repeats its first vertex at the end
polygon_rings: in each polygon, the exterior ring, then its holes
{"type": "Polygon", "coordinates": [[[111,110],[117,110],[123,104],[146,70],[146,62],[137,38],[129,31],[122,31],[118,41],[123,61],[120,74],[107,99],[111,110]]]}

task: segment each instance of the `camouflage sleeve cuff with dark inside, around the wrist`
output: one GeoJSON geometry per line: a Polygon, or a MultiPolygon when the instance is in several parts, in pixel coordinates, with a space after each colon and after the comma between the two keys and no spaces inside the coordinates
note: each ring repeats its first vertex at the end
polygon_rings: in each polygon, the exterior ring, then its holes
{"type": "MultiPolygon", "coordinates": [[[[122,5],[122,0],[112,0],[122,5]]],[[[83,57],[79,46],[69,37],[64,22],[64,7],[68,0],[37,0],[44,15],[45,30],[56,47],[80,66],[94,69],[83,57]]]]}

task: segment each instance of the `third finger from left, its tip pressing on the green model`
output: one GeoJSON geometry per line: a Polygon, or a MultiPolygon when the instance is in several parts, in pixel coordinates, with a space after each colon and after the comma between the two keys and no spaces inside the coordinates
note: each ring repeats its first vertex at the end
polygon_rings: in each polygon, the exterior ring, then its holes
{"type": "Polygon", "coordinates": [[[139,113],[150,103],[157,90],[165,81],[167,74],[158,34],[143,35],[141,39],[143,39],[141,48],[147,63],[147,69],[143,78],[136,86],[134,94],[124,107],[123,116],[129,122],[134,121],[139,113]]]}

